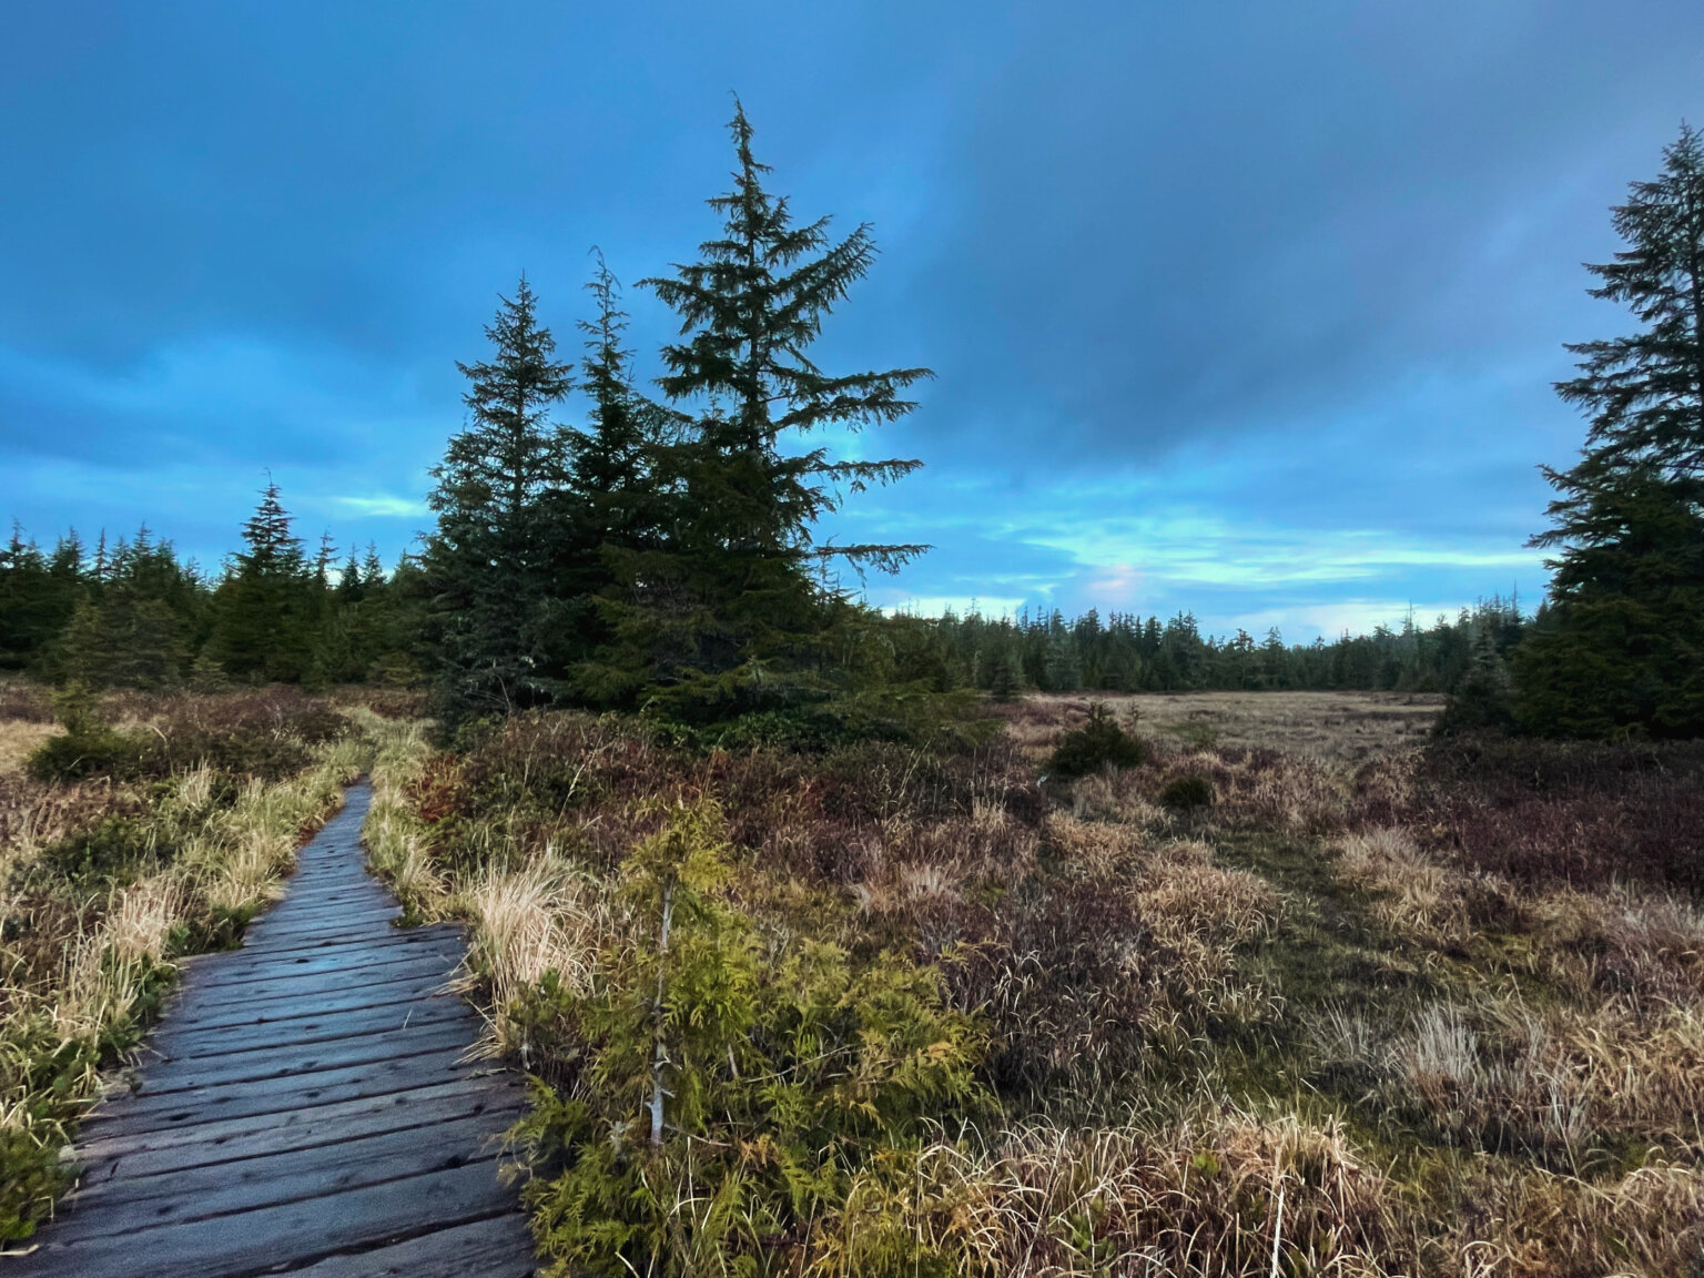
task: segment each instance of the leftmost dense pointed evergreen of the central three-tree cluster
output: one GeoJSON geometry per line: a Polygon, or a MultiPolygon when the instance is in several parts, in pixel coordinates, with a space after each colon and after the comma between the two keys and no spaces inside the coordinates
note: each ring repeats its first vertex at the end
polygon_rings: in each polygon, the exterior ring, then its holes
{"type": "Polygon", "coordinates": [[[492,354],[457,365],[469,380],[469,424],[433,470],[438,528],[424,554],[428,620],[443,711],[509,711],[549,695],[542,654],[564,528],[547,498],[566,489],[571,440],[549,419],[571,389],[571,365],[538,324],[521,278],[486,327],[492,354]]]}

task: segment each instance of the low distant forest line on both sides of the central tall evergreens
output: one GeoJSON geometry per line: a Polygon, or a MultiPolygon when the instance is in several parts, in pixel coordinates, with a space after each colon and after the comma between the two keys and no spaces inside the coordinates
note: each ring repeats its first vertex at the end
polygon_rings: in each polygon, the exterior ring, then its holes
{"type": "MultiPolygon", "coordinates": [[[[423,651],[426,581],[404,556],[307,554],[276,486],[216,573],[179,559],[147,528],[94,545],[75,532],[51,549],[14,528],[0,550],[0,670],[90,687],[160,688],[222,682],[412,683],[423,651]]],[[[895,617],[907,666],[937,690],[1041,692],[1392,690],[1452,692],[1476,648],[1506,654],[1530,625],[1518,605],[1481,600],[1430,627],[1287,644],[1237,630],[1203,634],[1191,613],[1167,620],[1094,608],[1067,619],[970,612],[895,617]]]]}

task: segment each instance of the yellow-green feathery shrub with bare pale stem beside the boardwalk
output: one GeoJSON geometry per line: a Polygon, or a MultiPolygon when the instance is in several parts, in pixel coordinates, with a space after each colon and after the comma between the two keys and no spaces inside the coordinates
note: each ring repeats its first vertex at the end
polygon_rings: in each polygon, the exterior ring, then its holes
{"type": "MultiPolygon", "coordinates": [[[[930,1114],[987,1104],[982,1036],[934,970],[767,937],[728,881],[717,808],[678,808],[629,859],[591,990],[547,978],[520,1012],[581,1045],[513,1133],[552,1275],[835,1273],[854,1184],[905,1167],[930,1114]]],[[[886,1242],[857,1271],[935,1273],[896,1203],[859,1222],[886,1242]]]]}

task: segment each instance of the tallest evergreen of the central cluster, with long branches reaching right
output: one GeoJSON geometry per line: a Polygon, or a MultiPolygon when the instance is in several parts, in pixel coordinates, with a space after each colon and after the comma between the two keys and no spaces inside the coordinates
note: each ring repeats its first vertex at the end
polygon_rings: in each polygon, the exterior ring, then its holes
{"type": "Polygon", "coordinates": [[[811,361],[823,319],[876,257],[869,227],[835,242],[828,218],[794,225],[787,199],[763,189],[769,167],[738,104],[729,128],[734,189],[709,201],[721,239],[671,278],[641,281],[680,317],[659,387],[697,411],[690,436],[656,453],[656,481],[683,494],[682,518],[665,550],[629,562],[625,598],[607,608],[615,639],[586,670],[607,699],[712,719],[821,694],[838,659],[830,632],[845,617],[828,561],[893,571],[927,549],[816,542],[816,520],[845,492],[918,462],[833,460],[791,440],[901,417],[913,407],[905,389],[929,370],[832,377],[811,361]]]}

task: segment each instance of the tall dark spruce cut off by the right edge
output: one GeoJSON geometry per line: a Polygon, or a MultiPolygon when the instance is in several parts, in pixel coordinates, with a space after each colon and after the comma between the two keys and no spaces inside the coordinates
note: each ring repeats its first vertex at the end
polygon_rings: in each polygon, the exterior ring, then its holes
{"type": "Polygon", "coordinates": [[[1557,383],[1592,419],[1552,527],[1552,607],[1515,653],[1517,717],[1564,736],[1704,734],[1704,138],[1682,126],[1656,181],[1614,225],[1627,247],[1588,266],[1593,296],[1639,331],[1569,346],[1557,383]]]}

